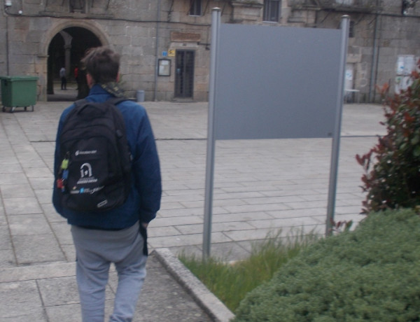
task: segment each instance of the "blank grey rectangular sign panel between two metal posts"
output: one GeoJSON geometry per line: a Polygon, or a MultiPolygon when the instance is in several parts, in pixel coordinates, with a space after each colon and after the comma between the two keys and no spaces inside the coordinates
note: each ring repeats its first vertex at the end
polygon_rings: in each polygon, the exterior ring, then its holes
{"type": "Polygon", "coordinates": [[[332,137],[337,29],[221,24],[215,139],[332,137]]]}

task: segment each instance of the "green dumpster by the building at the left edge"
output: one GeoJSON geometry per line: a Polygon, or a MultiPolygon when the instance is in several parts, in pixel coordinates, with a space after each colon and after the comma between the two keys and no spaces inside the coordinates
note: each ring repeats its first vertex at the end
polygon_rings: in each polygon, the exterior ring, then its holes
{"type": "Polygon", "coordinates": [[[1,101],[3,112],[6,107],[13,113],[17,107],[25,108],[31,106],[34,111],[36,103],[36,76],[0,76],[1,80],[1,101]]]}

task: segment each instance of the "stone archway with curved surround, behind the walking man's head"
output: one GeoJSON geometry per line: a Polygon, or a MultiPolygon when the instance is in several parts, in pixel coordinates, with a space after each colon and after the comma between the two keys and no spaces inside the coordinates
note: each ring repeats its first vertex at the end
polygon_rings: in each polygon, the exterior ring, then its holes
{"type": "MultiPolygon", "coordinates": [[[[68,20],[54,25],[43,34],[38,54],[38,64],[42,71],[39,74],[39,99],[46,101],[48,94],[54,93],[53,83],[58,78],[57,64],[66,65],[69,79],[74,82],[73,69],[85,50],[99,45],[111,46],[111,43],[102,26],[96,22],[68,20]]],[[[69,100],[76,99],[76,95],[73,96],[69,100]]]]}

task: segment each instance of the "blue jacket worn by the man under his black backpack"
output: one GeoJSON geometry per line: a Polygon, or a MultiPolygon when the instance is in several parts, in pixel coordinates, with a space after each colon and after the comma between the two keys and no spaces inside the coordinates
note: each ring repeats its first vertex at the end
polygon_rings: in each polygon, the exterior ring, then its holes
{"type": "MultiPolygon", "coordinates": [[[[86,99],[90,102],[104,102],[112,97],[109,92],[100,85],[92,86],[86,99]]],[[[61,165],[59,160],[59,136],[62,131],[64,120],[74,104],[65,109],[59,119],[57,138],[55,141],[54,169],[57,175],[57,167],[61,165]]],[[[162,195],[162,183],[160,177],[160,164],[158,151],[151,124],[143,106],[125,101],[118,104],[118,108],[125,120],[127,140],[132,153],[132,188],[127,201],[116,209],[100,213],[81,213],[62,207],[54,181],[52,204],[57,212],[71,225],[88,228],[116,230],[134,225],[137,221],[149,223],[156,216],[160,208],[162,195]]]]}

